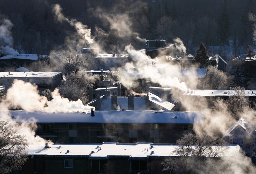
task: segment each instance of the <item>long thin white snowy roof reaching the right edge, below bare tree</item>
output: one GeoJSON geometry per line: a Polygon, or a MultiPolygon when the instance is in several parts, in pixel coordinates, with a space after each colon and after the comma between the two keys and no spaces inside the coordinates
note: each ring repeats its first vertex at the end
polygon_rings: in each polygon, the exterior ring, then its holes
{"type": "MultiPolygon", "coordinates": [[[[206,89],[206,90],[186,91],[183,95],[185,96],[229,96],[229,95],[236,95],[236,92],[235,90],[206,89]]],[[[256,96],[256,90],[249,90],[249,89],[245,90],[245,96],[256,96]]]]}

